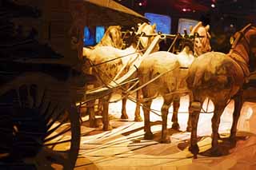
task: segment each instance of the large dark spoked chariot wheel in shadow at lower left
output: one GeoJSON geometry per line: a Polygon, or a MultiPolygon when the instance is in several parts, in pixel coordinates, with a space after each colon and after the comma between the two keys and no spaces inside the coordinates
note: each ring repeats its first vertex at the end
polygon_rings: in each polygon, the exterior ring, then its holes
{"type": "Polygon", "coordinates": [[[0,164],[73,169],[80,124],[70,86],[45,74],[31,74],[0,89],[0,164]]]}

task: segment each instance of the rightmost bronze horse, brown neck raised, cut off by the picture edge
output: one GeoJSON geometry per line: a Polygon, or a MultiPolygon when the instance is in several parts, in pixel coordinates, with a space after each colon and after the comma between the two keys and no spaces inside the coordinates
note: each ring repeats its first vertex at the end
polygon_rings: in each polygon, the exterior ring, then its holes
{"type": "Polygon", "coordinates": [[[193,93],[190,151],[194,154],[194,158],[199,152],[197,144],[198,117],[206,97],[209,97],[214,103],[211,152],[214,155],[222,154],[218,149],[218,127],[222,112],[232,98],[234,98],[235,105],[230,140],[231,142],[235,140],[238,117],[242,108],[242,86],[247,82],[250,70],[255,70],[256,27],[248,25],[238,31],[234,38],[230,53],[202,54],[194,60],[189,69],[186,82],[193,93]]]}

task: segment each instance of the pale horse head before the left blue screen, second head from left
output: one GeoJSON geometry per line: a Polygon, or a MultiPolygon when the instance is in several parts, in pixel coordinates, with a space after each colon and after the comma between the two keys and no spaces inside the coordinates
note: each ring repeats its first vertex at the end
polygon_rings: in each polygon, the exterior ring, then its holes
{"type": "MultiPolygon", "coordinates": [[[[138,26],[137,34],[141,35],[138,38],[138,43],[141,45],[141,49],[147,49],[151,42],[154,40],[154,36],[152,34],[156,34],[156,25],[150,25],[146,22],[138,26]],[[148,36],[143,36],[143,34],[148,35],[148,36]],[[150,36],[150,34],[152,36],[150,36]]],[[[159,45],[156,45],[155,48],[153,49],[152,52],[158,51],[159,50],[159,45]]]]}

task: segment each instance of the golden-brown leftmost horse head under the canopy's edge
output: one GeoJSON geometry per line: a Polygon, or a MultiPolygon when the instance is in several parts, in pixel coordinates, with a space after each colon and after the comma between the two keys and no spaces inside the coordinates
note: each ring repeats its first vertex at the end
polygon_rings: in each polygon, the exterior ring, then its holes
{"type": "Polygon", "coordinates": [[[97,46],[113,46],[114,48],[122,49],[121,26],[109,26],[97,46]]]}

